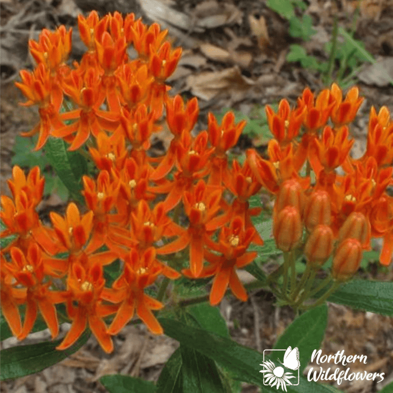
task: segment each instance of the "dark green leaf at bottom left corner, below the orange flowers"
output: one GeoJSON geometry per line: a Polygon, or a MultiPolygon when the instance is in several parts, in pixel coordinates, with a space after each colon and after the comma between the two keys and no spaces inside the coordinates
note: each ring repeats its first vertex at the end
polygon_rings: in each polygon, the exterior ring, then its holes
{"type": "Polygon", "coordinates": [[[83,335],[71,347],[58,351],[56,346],[62,339],[39,344],[21,345],[1,350],[1,377],[15,379],[25,375],[34,374],[44,368],[61,362],[74,352],[78,351],[87,341],[90,331],[85,330],[83,335]]]}

